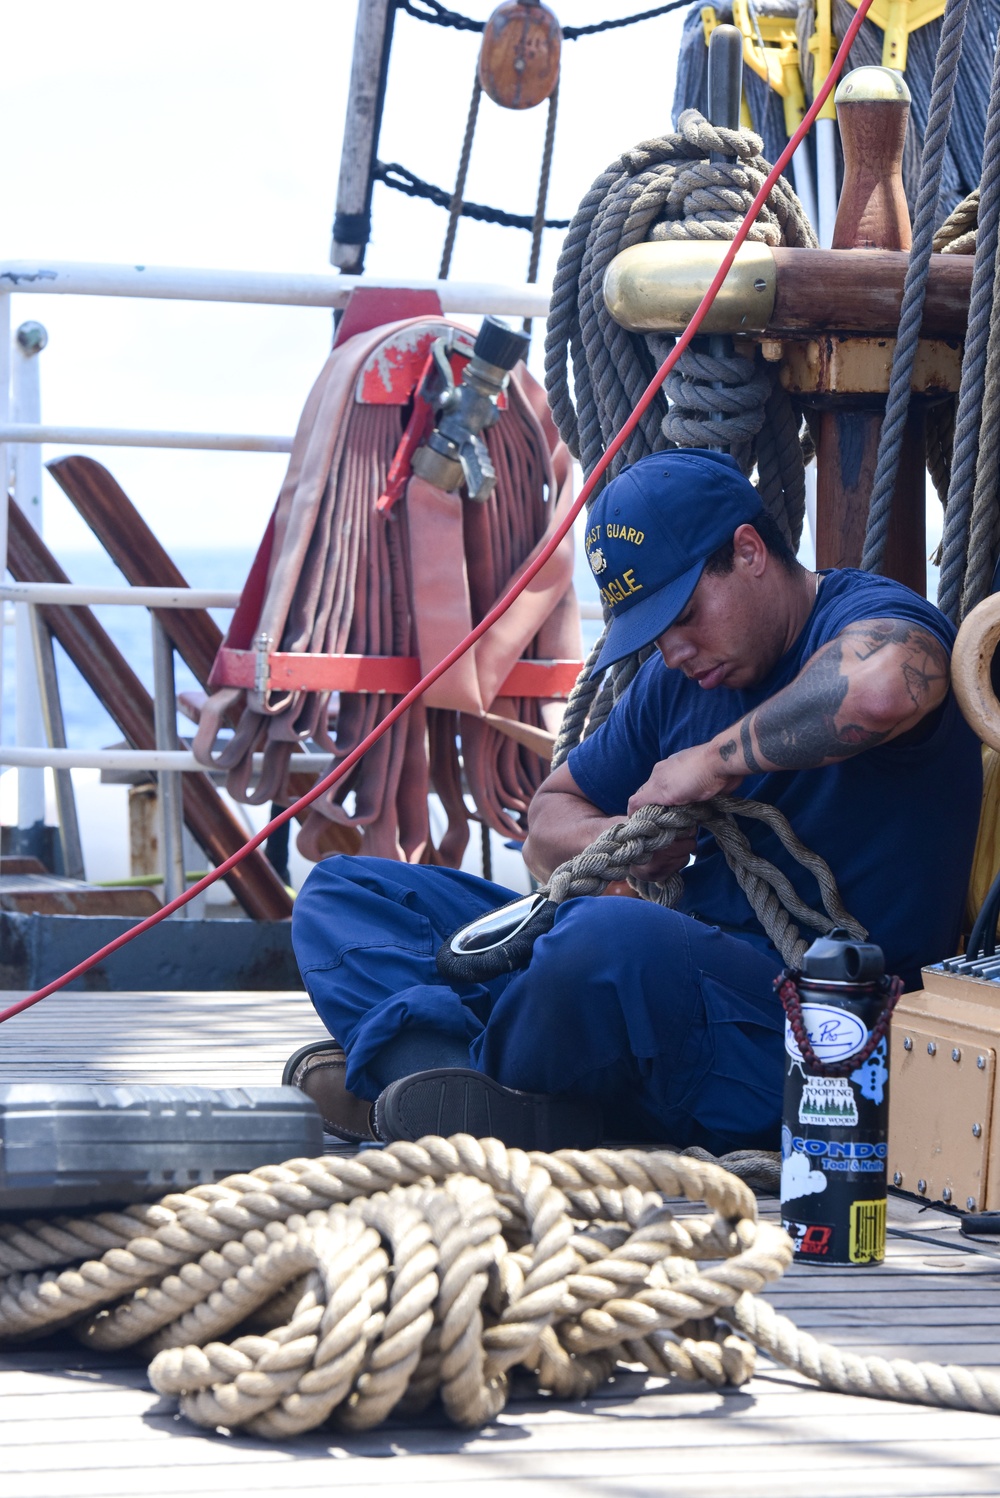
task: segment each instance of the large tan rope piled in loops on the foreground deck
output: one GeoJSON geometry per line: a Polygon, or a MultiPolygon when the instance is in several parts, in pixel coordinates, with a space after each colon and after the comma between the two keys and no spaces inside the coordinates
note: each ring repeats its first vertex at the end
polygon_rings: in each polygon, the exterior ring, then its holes
{"type": "Polygon", "coordinates": [[[365,1429],[436,1396],[457,1425],[482,1425],[518,1366],[558,1398],[618,1360],[740,1386],[753,1344],[828,1389],[1000,1413],[993,1374],[799,1332],[756,1299],[790,1258],[750,1188],[711,1162],[428,1137],[127,1212],[0,1224],[0,1338],[72,1326],[96,1348],[138,1345],[190,1420],[275,1440],[326,1420],[365,1429]]]}

